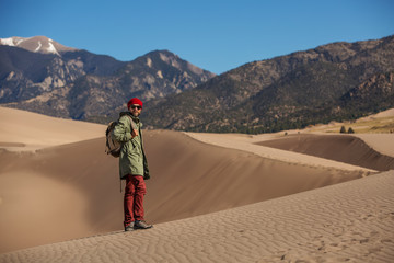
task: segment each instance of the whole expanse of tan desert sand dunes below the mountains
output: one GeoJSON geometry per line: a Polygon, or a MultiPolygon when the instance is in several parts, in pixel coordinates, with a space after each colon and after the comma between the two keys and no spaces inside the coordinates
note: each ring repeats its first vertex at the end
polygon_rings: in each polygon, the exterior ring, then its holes
{"type": "Polygon", "coordinates": [[[382,144],[146,130],[146,217],[155,226],[125,233],[106,126],[2,107],[0,116],[0,262],[394,259],[391,134],[382,144]]]}

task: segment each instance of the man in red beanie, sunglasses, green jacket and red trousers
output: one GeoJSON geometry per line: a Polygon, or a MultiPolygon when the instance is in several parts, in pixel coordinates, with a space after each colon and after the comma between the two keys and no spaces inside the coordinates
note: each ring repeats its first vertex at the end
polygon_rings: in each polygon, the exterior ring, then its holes
{"type": "Polygon", "coordinates": [[[132,231],[152,227],[143,218],[143,197],[147,194],[144,180],[148,180],[150,175],[143,152],[142,123],[139,119],[142,102],[138,98],[132,98],[127,103],[127,108],[128,112],[120,113],[113,137],[123,144],[119,156],[119,174],[121,180],[126,180],[124,227],[125,231],[132,231]]]}

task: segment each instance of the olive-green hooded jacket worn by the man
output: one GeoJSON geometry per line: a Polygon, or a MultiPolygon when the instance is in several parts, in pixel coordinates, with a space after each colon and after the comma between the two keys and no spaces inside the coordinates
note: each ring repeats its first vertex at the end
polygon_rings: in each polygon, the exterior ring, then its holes
{"type": "Polygon", "coordinates": [[[143,151],[142,123],[138,117],[132,116],[129,112],[119,114],[118,124],[113,130],[113,138],[123,144],[119,156],[119,175],[125,179],[127,174],[140,175],[144,180],[150,178],[147,157],[143,151]],[[128,115],[128,116],[127,116],[128,115]],[[135,128],[138,129],[139,136],[131,138],[131,121],[135,128]]]}

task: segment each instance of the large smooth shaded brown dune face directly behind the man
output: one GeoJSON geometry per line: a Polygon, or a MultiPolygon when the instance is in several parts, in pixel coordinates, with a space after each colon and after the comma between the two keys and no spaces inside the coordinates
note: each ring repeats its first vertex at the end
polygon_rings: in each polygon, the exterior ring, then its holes
{"type": "MultiPolygon", "coordinates": [[[[175,132],[148,132],[146,145],[152,172],[147,219],[154,224],[364,175],[264,159],[175,132]]],[[[117,159],[104,153],[104,138],[36,153],[2,152],[1,251],[121,229],[117,171],[117,159]]]]}

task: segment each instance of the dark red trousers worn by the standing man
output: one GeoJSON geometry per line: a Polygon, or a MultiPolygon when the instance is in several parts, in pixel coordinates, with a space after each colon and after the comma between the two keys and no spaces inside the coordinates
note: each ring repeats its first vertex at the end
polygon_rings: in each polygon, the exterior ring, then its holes
{"type": "Polygon", "coordinates": [[[143,220],[143,196],[147,194],[147,186],[143,176],[128,174],[125,187],[125,227],[135,220],[143,220]]]}

